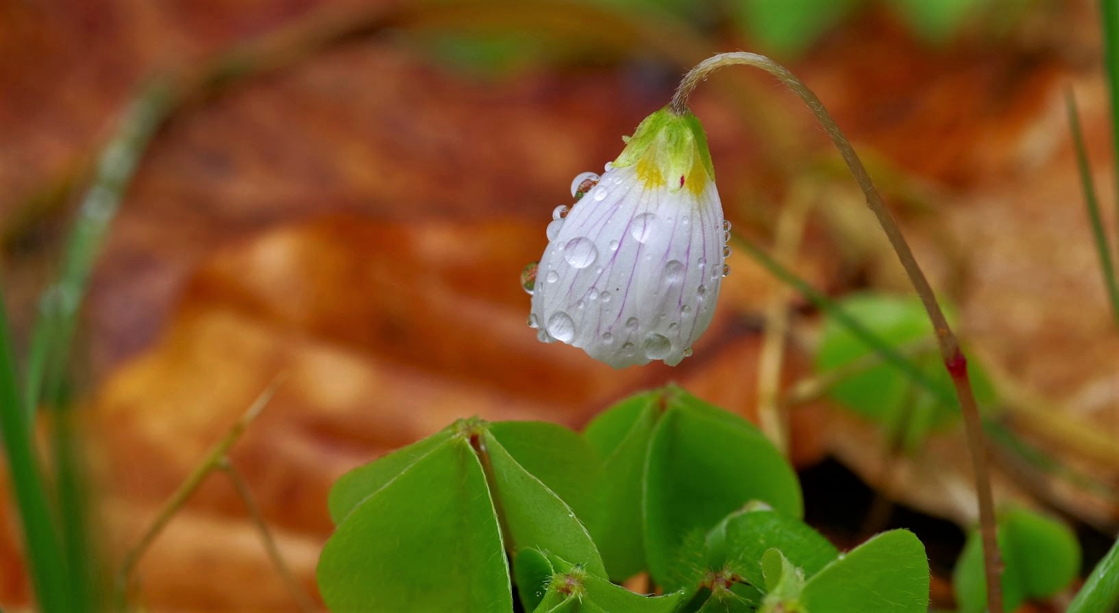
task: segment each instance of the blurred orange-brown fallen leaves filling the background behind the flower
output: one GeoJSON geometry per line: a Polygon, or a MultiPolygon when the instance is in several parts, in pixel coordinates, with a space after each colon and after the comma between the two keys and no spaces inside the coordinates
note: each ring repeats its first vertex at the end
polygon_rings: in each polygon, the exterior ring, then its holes
{"type": "MultiPolygon", "coordinates": [[[[281,372],[280,392],[232,461],[312,592],[333,480],[457,417],[580,427],[629,393],[677,381],[753,418],[763,313],[773,304],[802,329],[782,386],[810,376],[816,314],[737,253],[715,323],[675,369],[613,370],[537,342],[525,326],[518,274],[539,257],[572,177],[613,159],[620,136],[667,103],[690,64],[737,48],[788,62],[828,105],[933,284],[957,305],[962,336],[994,369],[1075,427],[1119,436],[1119,334],[1062,97],[1071,86],[1080,100],[1113,227],[1094,3],[1026,4],[1005,19],[978,11],[929,40],[867,2],[790,50],[767,47],[716,9],[679,15],[636,0],[517,10],[0,2],[3,279],[20,341],[85,171],[122,110],[156,74],[188,94],[140,163],[83,311],[75,376],[105,564],[281,372]],[[457,38],[463,32],[473,38],[457,38]],[[519,38],[504,56],[470,47],[510,32],[519,38]],[[238,56],[250,58],[244,72],[198,81],[238,49],[250,51],[238,56]]],[[[784,245],[787,263],[836,295],[906,292],[857,188],[799,102],[764,75],[724,70],[693,107],[736,228],[772,245],[788,205],[811,200],[799,247],[784,245]]],[[[872,485],[881,478],[871,426],[825,403],[792,419],[798,466],[830,456],[872,485]]],[[[1038,444],[1069,451],[1028,426],[1024,435],[1038,444]]],[[[958,433],[931,442],[905,459],[886,496],[967,526],[960,450],[958,433]]],[[[1119,479],[1113,463],[1072,461],[1119,479]]],[[[1006,475],[997,485],[1002,497],[1037,500],[1006,475]]],[[[1097,527],[1119,519],[1107,499],[1057,491],[1044,503],[1097,527]]],[[[16,521],[0,507],[6,607],[30,598],[16,521]]],[[[220,474],[168,526],[138,576],[138,602],[153,611],[295,606],[220,474]]]]}

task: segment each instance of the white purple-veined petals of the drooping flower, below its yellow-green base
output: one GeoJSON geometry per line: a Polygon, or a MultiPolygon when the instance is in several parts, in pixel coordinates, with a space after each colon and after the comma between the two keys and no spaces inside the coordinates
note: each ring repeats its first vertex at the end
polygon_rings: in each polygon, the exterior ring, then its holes
{"type": "Polygon", "coordinates": [[[540,340],[581,347],[615,368],[679,364],[714,315],[723,246],[714,181],[696,195],[646,188],[634,166],[609,170],[540,260],[533,293],[540,340]]]}

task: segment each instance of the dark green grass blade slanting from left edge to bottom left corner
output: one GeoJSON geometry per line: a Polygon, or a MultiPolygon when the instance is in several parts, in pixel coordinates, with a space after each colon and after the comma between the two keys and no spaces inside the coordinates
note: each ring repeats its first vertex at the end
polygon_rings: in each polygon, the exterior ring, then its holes
{"type": "Polygon", "coordinates": [[[22,520],[28,569],[43,611],[73,611],[65,558],[19,394],[9,332],[0,295],[0,434],[22,520]]]}

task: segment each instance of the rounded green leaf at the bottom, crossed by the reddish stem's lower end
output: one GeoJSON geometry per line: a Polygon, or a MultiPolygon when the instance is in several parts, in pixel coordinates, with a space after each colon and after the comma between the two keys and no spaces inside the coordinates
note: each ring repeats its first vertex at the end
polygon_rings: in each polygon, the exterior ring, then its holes
{"type": "MultiPolygon", "coordinates": [[[[1072,530],[1045,516],[1009,509],[998,518],[1003,555],[1003,602],[1007,611],[1032,598],[1053,596],[1080,572],[1080,544],[1072,530]]],[[[971,532],[952,574],[960,613],[979,613],[987,605],[982,539],[971,532]]]]}

